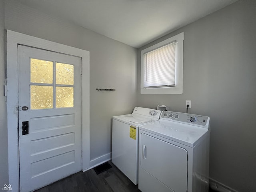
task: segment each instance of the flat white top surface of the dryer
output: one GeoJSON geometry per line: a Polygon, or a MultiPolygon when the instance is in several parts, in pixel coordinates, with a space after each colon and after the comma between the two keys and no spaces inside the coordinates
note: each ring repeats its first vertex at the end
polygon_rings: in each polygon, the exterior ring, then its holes
{"type": "Polygon", "coordinates": [[[139,127],[140,130],[156,134],[166,139],[194,147],[209,130],[194,125],[184,123],[171,122],[160,119],[139,127]]]}

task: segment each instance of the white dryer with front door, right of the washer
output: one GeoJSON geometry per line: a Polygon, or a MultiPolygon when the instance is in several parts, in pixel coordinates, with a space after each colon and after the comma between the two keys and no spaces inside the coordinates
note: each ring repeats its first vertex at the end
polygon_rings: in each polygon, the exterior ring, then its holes
{"type": "Polygon", "coordinates": [[[142,192],[208,192],[210,118],[163,111],[139,127],[142,192]]]}

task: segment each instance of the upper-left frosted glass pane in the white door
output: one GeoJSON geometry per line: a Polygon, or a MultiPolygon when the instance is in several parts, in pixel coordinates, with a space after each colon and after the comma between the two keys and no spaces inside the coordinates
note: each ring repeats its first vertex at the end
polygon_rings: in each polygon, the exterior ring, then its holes
{"type": "Polygon", "coordinates": [[[52,84],[53,62],[30,59],[30,82],[52,84]]]}

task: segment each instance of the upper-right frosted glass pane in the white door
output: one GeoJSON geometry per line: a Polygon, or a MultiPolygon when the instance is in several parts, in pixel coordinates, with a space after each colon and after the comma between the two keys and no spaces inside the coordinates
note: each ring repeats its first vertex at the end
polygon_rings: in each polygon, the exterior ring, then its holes
{"type": "Polygon", "coordinates": [[[56,84],[74,85],[74,66],[56,63],[56,84]]]}

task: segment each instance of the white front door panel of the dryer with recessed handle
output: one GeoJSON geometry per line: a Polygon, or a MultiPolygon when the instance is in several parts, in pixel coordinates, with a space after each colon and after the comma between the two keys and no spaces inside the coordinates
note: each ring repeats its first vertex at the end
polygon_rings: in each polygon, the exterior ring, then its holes
{"type": "Polygon", "coordinates": [[[158,138],[141,134],[141,168],[174,192],[186,192],[188,152],[158,138]]]}

